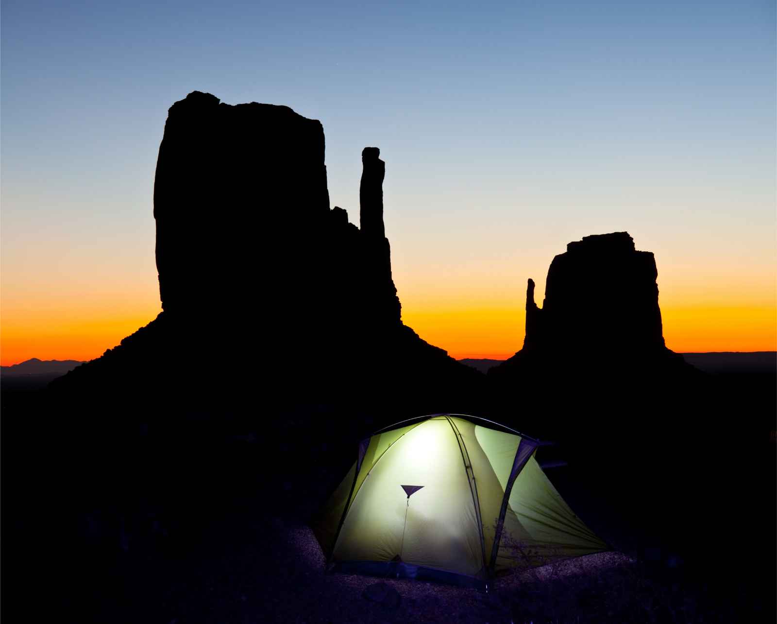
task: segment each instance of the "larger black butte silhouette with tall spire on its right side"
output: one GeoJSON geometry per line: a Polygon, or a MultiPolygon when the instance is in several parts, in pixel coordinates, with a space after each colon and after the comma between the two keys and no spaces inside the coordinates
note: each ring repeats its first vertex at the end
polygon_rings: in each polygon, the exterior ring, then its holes
{"type": "Polygon", "coordinates": [[[378,148],[362,152],[361,229],[329,209],[324,154],[321,123],[288,107],[174,103],[154,184],[162,313],[54,386],[385,402],[479,383],[402,324],[378,148]]]}

